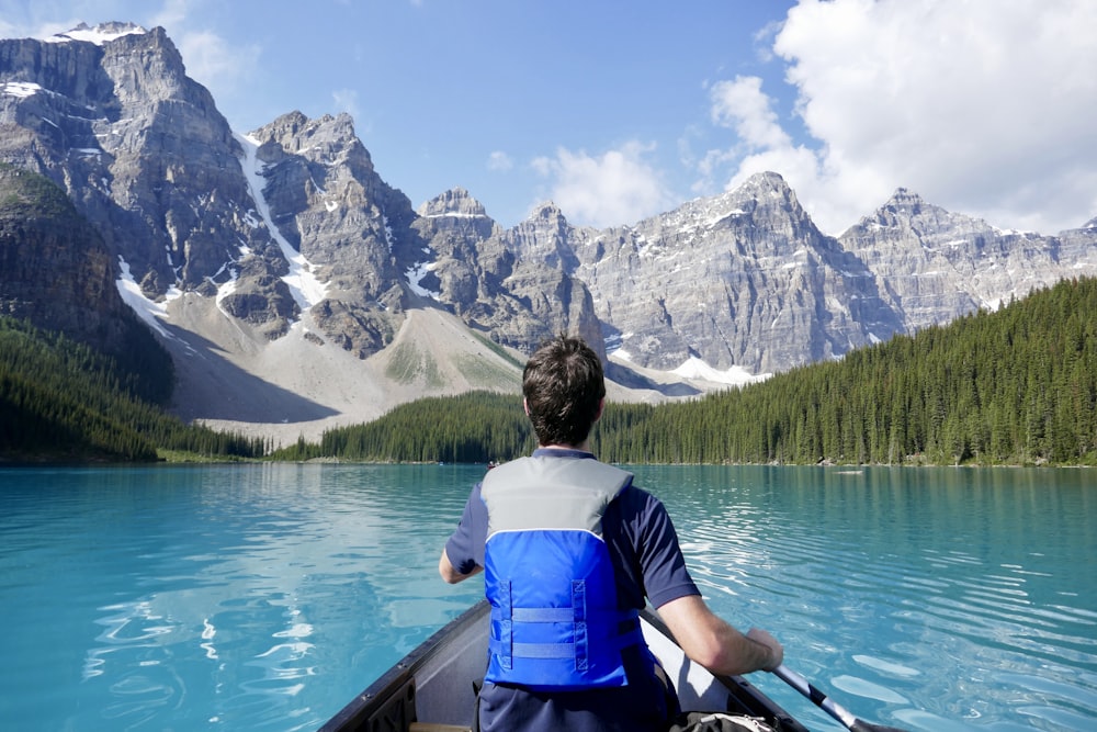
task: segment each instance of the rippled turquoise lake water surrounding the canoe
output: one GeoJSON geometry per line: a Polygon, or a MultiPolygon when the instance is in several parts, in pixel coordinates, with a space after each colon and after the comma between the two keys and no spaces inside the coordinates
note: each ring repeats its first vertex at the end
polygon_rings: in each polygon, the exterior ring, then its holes
{"type": "MultiPolygon", "coordinates": [[[[713,608],[858,717],[1097,729],[1097,471],[631,470],[713,608]]],[[[479,597],[437,564],[483,472],[0,469],[4,729],[317,728],[479,597]]]]}

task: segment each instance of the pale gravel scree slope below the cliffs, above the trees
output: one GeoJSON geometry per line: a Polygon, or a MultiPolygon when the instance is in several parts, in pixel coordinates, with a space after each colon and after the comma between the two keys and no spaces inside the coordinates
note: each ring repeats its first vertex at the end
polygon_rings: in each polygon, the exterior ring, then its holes
{"type": "MultiPolygon", "coordinates": [[[[308,316],[270,342],[220,313],[212,299],[186,295],[168,306],[165,339],[177,363],[172,412],[216,429],[269,437],[285,446],[324,430],[376,419],[423,396],[494,390],[520,398],[525,356],[479,337],[450,313],[407,312],[393,342],[360,360],[316,335],[308,316]]],[[[667,374],[648,373],[658,382],[667,374]]],[[[660,402],[667,393],[695,393],[683,380],[672,388],[627,388],[610,382],[611,402],[660,402]]],[[[715,384],[701,384],[700,391],[715,384]]]]}

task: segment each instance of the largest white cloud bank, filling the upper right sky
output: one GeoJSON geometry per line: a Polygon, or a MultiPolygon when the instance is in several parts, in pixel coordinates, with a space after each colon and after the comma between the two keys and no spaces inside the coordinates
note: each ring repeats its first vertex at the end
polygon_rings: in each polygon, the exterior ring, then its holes
{"type": "Polygon", "coordinates": [[[999,226],[1081,225],[1097,214],[1095,27],[1089,0],[801,0],[773,50],[813,149],[739,77],[711,90],[738,143],[699,170],[776,170],[833,234],[898,187],[999,226]]]}

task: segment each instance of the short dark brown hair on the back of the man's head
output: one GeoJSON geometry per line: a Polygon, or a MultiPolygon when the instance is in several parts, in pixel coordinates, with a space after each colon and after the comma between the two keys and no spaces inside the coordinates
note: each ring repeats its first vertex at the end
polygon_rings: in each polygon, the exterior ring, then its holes
{"type": "Polygon", "coordinates": [[[602,362],[581,338],[561,334],[525,363],[522,396],[540,444],[581,444],[606,397],[602,362]]]}

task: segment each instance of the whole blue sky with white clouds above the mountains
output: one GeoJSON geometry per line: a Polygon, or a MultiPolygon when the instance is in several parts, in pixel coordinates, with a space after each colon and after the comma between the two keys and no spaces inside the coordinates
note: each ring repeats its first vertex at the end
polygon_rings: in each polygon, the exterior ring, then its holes
{"type": "Polygon", "coordinates": [[[840,234],[900,187],[1002,228],[1097,216],[1090,0],[0,0],[0,37],[162,25],[234,129],[348,112],[418,206],[633,224],[750,173],[840,234]]]}

